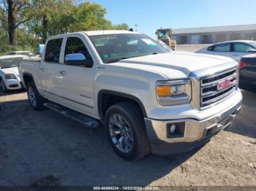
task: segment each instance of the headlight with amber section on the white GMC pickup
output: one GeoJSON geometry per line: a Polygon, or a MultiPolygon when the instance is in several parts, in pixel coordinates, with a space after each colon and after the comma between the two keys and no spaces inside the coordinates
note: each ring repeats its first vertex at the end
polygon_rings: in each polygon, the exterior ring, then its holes
{"type": "Polygon", "coordinates": [[[189,79],[160,81],[156,92],[157,100],[163,106],[187,104],[191,101],[191,82],[189,79]]]}

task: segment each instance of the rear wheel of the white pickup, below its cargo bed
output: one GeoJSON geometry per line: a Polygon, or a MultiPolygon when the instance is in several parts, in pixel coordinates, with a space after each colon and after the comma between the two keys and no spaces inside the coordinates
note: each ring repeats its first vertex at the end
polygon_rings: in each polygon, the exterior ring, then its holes
{"type": "Polygon", "coordinates": [[[28,93],[28,98],[29,98],[29,104],[30,106],[37,111],[40,111],[44,109],[44,98],[39,94],[36,85],[34,82],[28,82],[26,84],[26,90],[28,93]]]}

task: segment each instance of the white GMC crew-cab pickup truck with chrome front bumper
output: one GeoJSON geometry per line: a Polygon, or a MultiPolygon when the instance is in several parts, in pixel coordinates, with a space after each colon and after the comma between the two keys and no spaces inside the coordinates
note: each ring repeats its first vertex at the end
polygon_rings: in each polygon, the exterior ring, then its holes
{"type": "Polygon", "coordinates": [[[50,37],[41,61],[20,61],[19,72],[34,109],[104,124],[126,160],[187,152],[241,109],[236,61],[173,52],[131,31],[50,37]]]}

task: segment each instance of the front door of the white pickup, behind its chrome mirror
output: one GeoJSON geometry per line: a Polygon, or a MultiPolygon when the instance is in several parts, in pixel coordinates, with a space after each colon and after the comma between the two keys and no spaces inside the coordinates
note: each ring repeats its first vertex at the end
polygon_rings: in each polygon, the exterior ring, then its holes
{"type": "Polygon", "coordinates": [[[83,36],[68,36],[65,39],[64,63],[58,67],[60,81],[57,88],[61,103],[64,103],[71,109],[78,112],[94,116],[94,61],[86,47],[86,41],[83,36]],[[72,63],[67,61],[67,55],[83,54],[86,61],[91,62],[91,66],[81,63],[72,63]]]}

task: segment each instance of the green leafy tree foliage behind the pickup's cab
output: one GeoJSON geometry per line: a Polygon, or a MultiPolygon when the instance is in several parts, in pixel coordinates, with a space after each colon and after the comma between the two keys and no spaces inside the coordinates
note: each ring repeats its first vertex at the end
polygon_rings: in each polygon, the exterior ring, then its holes
{"type": "MultiPolygon", "coordinates": [[[[7,0],[0,0],[0,55],[12,50],[38,51],[48,36],[90,30],[128,30],[125,23],[113,25],[105,18],[106,9],[100,4],[75,0],[21,0],[26,3],[18,12],[18,44],[8,41],[7,0]]],[[[20,1],[20,2],[21,2],[20,1]]]]}

